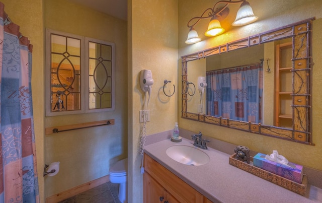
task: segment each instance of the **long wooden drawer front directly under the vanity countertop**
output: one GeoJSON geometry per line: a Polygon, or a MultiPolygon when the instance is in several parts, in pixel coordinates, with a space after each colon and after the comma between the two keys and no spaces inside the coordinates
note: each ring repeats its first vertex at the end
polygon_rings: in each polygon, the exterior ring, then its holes
{"type": "Polygon", "coordinates": [[[201,193],[146,154],[144,169],[180,202],[203,202],[201,193]]]}

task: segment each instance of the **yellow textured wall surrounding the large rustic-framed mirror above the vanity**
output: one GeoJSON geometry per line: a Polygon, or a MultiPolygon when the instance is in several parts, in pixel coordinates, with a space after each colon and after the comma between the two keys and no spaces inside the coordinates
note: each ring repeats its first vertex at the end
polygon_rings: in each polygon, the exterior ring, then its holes
{"type": "MultiPolygon", "coordinates": [[[[218,2],[218,1],[216,1],[218,2]]],[[[257,134],[244,131],[229,129],[216,125],[201,123],[188,119],[179,119],[180,127],[202,132],[210,137],[226,141],[235,145],[248,146],[251,150],[259,151],[265,154],[272,153],[272,150],[284,155],[289,161],[302,164],[311,168],[322,170],[322,157],[316,156],[322,153],[322,129],[320,128],[322,108],[320,106],[321,97],[319,96],[319,87],[322,85],[320,80],[322,70],[320,66],[321,55],[321,28],[322,28],[322,2],[319,0],[287,0],[287,1],[248,1],[253,8],[255,15],[259,20],[253,24],[243,27],[231,27],[230,23],[235,18],[235,13],[239,6],[230,5],[230,14],[222,22],[226,33],[212,38],[206,38],[203,35],[209,21],[199,23],[196,30],[203,40],[197,44],[187,45],[184,41],[187,38],[189,29],[186,27],[187,22],[194,16],[201,15],[207,8],[212,8],[215,4],[213,1],[183,1],[179,0],[179,55],[194,53],[205,48],[224,44],[250,35],[261,33],[270,29],[278,28],[284,25],[295,23],[311,17],[316,17],[313,21],[313,75],[312,75],[312,136],[315,146],[308,146],[294,142],[284,141],[281,139],[259,136],[257,134]],[[188,12],[189,11],[189,12],[188,12]],[[230,23],[229,23],[230,22],[230,23]]],[[[188,64],[189,66],[189,64],[188,64]]],[[[264,74],[265,75],[265,74],[264,74]]],[[[188,73],[189,76],[189,73],[188,73]]],[[[264,76],[264,80],[266,75],[264,76]]],[[[180,99],[180,98],[179,98],[180,99]]],[[[181,108],[181,105],[179,105],[181,108]]],[[[179,116],[181,114],[180,111],[179,116]]]]}

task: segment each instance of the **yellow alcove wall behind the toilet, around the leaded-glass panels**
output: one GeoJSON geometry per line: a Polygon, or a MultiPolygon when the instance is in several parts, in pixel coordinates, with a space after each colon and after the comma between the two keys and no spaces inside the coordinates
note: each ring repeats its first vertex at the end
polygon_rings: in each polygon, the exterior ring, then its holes
{"type": "MultiPolygon", "coordinates": [[[[45,162],[60,162],[56,176],[45,177],[45,196],[108,175],[127,157],[127,22],[64,0],[46,0],[45,28],[115,43],[115,110],[45,117],[45,127],[115,119],[114,125],[45,136],[45,162]]],[[[43,107],[44,108],[44,107],[43,107]]]]}

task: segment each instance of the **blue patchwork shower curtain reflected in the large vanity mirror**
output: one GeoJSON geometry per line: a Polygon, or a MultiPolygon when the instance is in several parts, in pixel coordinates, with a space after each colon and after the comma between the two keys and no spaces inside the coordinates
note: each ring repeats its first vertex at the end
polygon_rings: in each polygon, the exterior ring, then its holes
{"type": "Polygon", "coordinates": [[[263,64],[206,72],[206,114],[262,122],[263,64]]]}

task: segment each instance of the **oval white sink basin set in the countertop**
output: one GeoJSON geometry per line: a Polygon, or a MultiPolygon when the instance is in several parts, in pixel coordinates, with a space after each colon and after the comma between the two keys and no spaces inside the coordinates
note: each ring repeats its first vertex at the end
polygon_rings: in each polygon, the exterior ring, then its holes
{"type": "Polygon", "coordinates": [[[167,155],[182,164],[200,166],[209,162],[209,156],[195,147],[174,145],[167,149],[167,155]]]}

